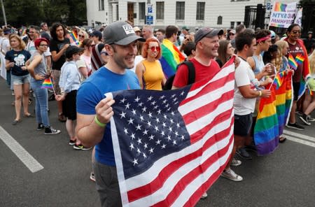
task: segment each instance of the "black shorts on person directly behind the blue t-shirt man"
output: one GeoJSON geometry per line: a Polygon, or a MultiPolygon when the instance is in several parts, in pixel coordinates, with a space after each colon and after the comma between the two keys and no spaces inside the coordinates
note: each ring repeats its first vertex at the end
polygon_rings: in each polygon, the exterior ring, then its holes
{"type": "Polygon", "coordinates": [[[77,90],[69,92],[62,101],[62,113],[69,120],[76,120],[76,92],[77,90]]]}

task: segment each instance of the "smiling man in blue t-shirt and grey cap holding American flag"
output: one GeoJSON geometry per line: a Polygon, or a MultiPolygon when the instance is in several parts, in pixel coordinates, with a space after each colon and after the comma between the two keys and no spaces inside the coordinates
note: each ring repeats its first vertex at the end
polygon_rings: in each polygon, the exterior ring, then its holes
{"type": "Polygon", "coordinates": [[[93,170],[102,206],[121,206],[109,122],[113,116],[111,105],[115,101],[104,94],[140,89],[137,76],[127,69],[134,66],[137,41],[145,40],[126,22],[109,24],[104,30],[104,39],[109,61],[92,73],[78,90],[76,132],[83,145],[96,145],[93,170]]]}

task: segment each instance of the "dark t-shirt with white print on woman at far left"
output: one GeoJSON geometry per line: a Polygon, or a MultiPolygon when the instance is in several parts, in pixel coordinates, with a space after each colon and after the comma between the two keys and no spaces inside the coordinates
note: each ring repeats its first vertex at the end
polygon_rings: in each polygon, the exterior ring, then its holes
{"type": "Polygon", "coordinates": [[[10,50],[6,52],[6,59],[10,62],[14,62],[14,66],[11,68],[11,73],[14,76],[25,76],[29,74],[29,71],[22,70],[22,66],[25,66],[27,60],[31,57],[31,53],[27,50],[15,51],[10,50]]]}

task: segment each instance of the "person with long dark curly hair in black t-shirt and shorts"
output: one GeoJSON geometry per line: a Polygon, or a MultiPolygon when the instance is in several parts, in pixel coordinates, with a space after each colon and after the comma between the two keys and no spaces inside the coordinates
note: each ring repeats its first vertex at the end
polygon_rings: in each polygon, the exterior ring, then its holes
{"type": "MultiPolygon", "coordinates": [[[[56,94],[60,94],[59,78],[60,70],[64,62],[66,62],[66,56],[64,52],[70,45],[69,38],[66,38],[66,27],[63,24],[55,23],[50,28],[50,35],[52,40],[50,41],[50,52],[52,55],[52,76],[54,78],[54,88],[56,94]]],[[[66,122],[66,117],[62,113],[62,101],[57,101],[58,107],[58,120],[60,122],[66,122]]]]}

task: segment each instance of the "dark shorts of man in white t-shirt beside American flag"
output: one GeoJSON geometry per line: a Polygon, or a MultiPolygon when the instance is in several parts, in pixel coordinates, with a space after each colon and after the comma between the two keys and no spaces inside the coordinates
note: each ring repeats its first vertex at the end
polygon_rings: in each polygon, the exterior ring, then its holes
{"type": "Polygon", "coordinates": [[[234,115],[234,134],[247,136],[253,124],[253,113],[248,115],[234,115]]]}

